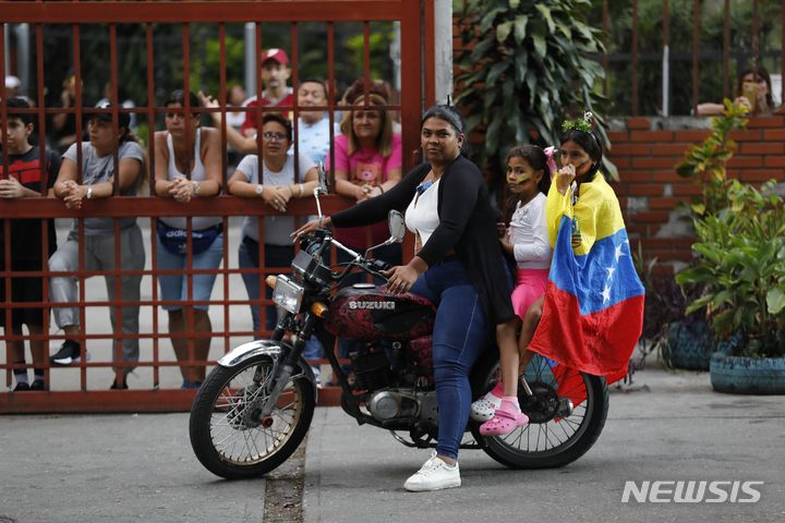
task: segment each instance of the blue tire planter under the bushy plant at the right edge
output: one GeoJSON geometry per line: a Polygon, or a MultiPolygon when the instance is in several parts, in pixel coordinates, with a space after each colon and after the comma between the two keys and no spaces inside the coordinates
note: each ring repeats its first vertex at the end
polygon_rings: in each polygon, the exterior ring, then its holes
{"type": "Polygon", "coordinates": [[[785,394],[785,357],[714,354],[709,372],[717,392],[785,394]]]}

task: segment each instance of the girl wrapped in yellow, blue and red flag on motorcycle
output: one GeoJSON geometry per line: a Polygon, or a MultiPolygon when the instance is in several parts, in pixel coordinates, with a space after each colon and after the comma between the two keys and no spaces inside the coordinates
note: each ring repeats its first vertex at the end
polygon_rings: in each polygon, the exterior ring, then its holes
{"type": "Polygon", "coordinates": [[[640,337],[644,290],[632,265],[618,199],[600,172],[603,153],[591,118],[588,112],[563,125],[561,168],[546,202],[554,267],[546,293],[524,317],[520,365],[526,368],[538,353],[576,372],[605,376],[612,384],[627,374],[640,337]],[[572,248],[557,248],[559,231],[566,227],[572,248]],[[561,290],[565,278],[572,288],[569,293],[561,290]]]}

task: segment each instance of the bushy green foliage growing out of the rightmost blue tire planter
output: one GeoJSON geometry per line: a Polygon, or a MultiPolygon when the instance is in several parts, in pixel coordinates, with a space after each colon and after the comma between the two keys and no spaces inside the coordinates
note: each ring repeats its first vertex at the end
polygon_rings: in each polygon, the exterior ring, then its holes
{"type": "Polygon", "coordinates": [[[727,206],[695,220],[697,258],[676,276],[703,289],[687,312],[705,309],[720,338],[740,336],[740,355],[785,355],[785,202],[774,185],[726,182],[727,206]]]}

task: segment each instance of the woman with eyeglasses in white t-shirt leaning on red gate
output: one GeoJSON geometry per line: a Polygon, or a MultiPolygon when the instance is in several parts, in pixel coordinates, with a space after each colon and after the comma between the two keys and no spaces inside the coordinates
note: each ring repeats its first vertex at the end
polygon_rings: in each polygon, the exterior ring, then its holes
{"type": "MultiPolygon", "coordinates": [[[[265,270],[280,272],[287,270],[294,257],[291,233],[294,230],[294,217],[286,215],[287,204],[291,198],[313,196],[318,185],[317,171],[314,162],[304,154],[299,155],[295,166],[294,156],[289,155],[292,143],[292,124],[286,117],[277,112],[268,112],[262,117],[262,172],[259,173],[258,156],[247,155],[240,161],[234,174],[228,182],[229,194],[244,198],[262,198],[275,214],[265,216],[264,228],[259,230],[258,218],[247,216],[243,220],[243,240],[240,244],[240,268],[249,300],[258,302],[259,289],[259,238],[264,236],[265,270]],[[299,171],[298,171],[299,169],[299,171]],[[297,172],[304,175],[297,177],[297,172]],[[303,180],[303,182],[298,182],[303,180]]],[[[267,297],[270,290],[265,287],[267,297]]],[[[259,306],[251,304],[251,317],[255,336],[259,336],[259,306]]],[[[276,326],[276,307],[269,305],[265,311],[265,330],[276,326]]]]}

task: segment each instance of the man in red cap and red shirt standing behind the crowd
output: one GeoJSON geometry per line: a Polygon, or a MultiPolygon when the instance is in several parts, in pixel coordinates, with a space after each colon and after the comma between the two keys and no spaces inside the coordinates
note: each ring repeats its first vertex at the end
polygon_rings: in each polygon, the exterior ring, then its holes
{"type": "MultiPolygon", "coordinates": [[[[289,69],[289,57],[283,49],[267,49],[262,57],[262,66],[259,68],[259,76],[262,77],[262,99],[257,100],[256,95],[252,96],[243,104],[243,107],[256,108],[262,107],[294,107],[294,95],[291,87],[287,85],[291,69],[289,69]]],[[[288,117],[288,114],[283,114],[288,117]]],[[[245,113],[245,121],[241,131],[244,136],[254,136],[256,134],[256,111],[245,113]]]]}

